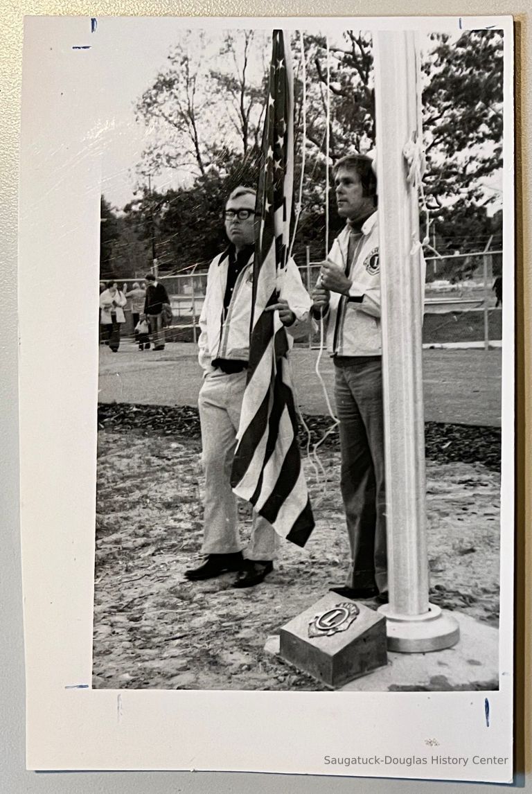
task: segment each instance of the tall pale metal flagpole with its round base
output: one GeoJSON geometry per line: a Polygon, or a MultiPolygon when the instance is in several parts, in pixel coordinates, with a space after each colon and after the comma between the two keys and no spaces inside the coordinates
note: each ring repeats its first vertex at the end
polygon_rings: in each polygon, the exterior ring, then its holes
{"type": "Polygon", "coordinates": [[[408,31],[375,35],[376,162],[389,603],[388,647],[407,653],[457,642],[453,617],[429,603],[425,434],[422,392],[422,281],[418,197],[403,148],[418,133],[418,42],[408,31]]]}

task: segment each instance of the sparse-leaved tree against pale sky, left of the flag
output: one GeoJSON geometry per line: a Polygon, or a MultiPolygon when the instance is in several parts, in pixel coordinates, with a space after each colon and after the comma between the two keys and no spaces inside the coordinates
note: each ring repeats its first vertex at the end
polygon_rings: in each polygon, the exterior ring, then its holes
{"type": "Polygon", "coordinates": [[[173,168],[190,182],[223,168],[228,152],[247,157],[260,146],[264,69],[252,74],[249,52],[252,45],[260,51],[264,41],[250,30],[226,33],[214,60],[215,38],[187,32],[137,102],[137,120],[152,131],[141,174],[173,168]]]}

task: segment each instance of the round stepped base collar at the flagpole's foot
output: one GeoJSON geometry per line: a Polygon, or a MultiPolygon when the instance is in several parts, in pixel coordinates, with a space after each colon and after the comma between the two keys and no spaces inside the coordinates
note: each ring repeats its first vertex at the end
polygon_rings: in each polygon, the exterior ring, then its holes
{"type": "Polygon", "coordinates": [[[388,650],[427,653],[450,648],[460,639],[457,621],[434,603],[424,615],[398,615],[388,603],[378,611],[386,618],[388,650]]]}

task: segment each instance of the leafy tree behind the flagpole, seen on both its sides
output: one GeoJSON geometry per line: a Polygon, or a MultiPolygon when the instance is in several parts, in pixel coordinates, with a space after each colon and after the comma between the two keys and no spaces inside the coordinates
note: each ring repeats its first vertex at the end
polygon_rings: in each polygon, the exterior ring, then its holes
{"type": "MultiPolygon", "coordinates": [[[[332,161],[347,152],[367,152],[375,143],[371,37],[346,31],[343,39],[345,46],[333,44],[329,53],[332,161]]],[[[309,38],[308,58],[314,68],[311,79],[325,86],[324,37],[309,38]]],[[[437,232],[442,252],[482,250],[492,234],[487,210],[495,198],[485,180],[502,165],[502,37],[484,30],[465,32],[458,40],[434,34],[422,74],[423,181],[432,210],[431,231],[437,232]]],[[[325,109],[324,94],[314,87],[307,119],[311,144],[320,151],[325,109]]],[[[500,243],[500,229],[495,228],[493,245],[500,243]]]]}

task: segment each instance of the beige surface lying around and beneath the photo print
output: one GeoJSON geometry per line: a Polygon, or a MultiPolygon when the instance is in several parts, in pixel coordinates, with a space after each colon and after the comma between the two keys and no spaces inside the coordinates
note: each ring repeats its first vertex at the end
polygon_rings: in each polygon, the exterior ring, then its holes
{"type": "MultiPolygon", "coordinates": [[[[79,14],[87,16],[102,16],[104,14],[179,14],[192,15],[255,15],[255,14],[282,14],[287,10],[291,14],[299,12],[301,15],[367,15],[368,6],[360,2],[299,2],[291,3],[289,9],[281,2],[181,2],[170,3],[98,3],[91,6],[88,3],[73,2],[64,5],[51,2],[34,2],[14,6],[2,0],[3,23],[0,28],[0,106],[2,106],[2,123],[0,124],[0,184],[2,185],[2,200],[0,202],[0,301],[2,309],[2,376],[0,376],[0,399],[2,400],[2,420],[0,422],[0,449],[3,451],[2,465],[2,516],[5,518],[4,548],[2,553],[2,595],[4,610],[2,611],[2,696],[6,696],[6,704],[2,705],[2,714],[7,719],[2,720],[1,746],[2,762],[0,764],[0,781],[2,790],[7,792],[44,791],[44,792],[86,792],[86,791],[138,791],[138,792],[199,792],[199,791],[294,791],[294,792],[347,792],[360,790],[364,792],[405,792],[405,791],[465,791],[465,784],[429,784],[426,782],[415,783],[407,781],[383,780],[340,780],[325,777],[279,777],[259,776],[250,774],[214,775],[207,773],[63,773],[63,774],[35,774],[25,772],[24,765],[24,669],[23,669],[23,643],[21,626],[21,583],[20,583],[20,555],[17,522],[17,324],[16,324],[16,268],[17,268],[17,131],[19,125],[20,104],[20,78],[21,78],[21,39],[22,39],[22,14],[79,14]],[[9,685],[6,685],[9,684],[9,685]]],[[[518,79],[518,119],[522,121],[522,159],[518,163],[518,186],[522,180],[522,171],[527,171],[526,164],[530,162],[530,30],[525,4],[511,5],[507,2],[449,2],[445,9],[437,2],[373,2],[371,13],[374,15],[407,15],[415,13],[435,13],[437,10],[445,14],[488,14],[488,13],[513,13],[521,22],[516,37],[516,52],[520,62],[518,79]],[[523,87],[526,87],[526,91],[523,87]],[[522,107],[519,108],[519,91],[522,91],[522,107]],[[521,115],[521,118],[519,118],[521,115]]],[[[518,147],[519,155],[519,147],[518,147]]],[[[522,218],[518,215],[518,230],[522,227],[524,250],[530,250],[530,200],[526,192],[522,195],[522,218]]],[[[530,273],[522,272],[521,256],[518,264],[518,305],[519,301],[530,303],[530,273]]],[[[526,338],[527,345],[518,355],[519,381],[524,385],[523,372],[530,366],[530,318],[523,313],[520,306],[520,322],[518,327],[522,338],[526,338]]],[[[523,398],[521,396],[521,410],[523,398]]],[[[520,436],[520,464],[519,470],[523,482],[530,482],[530,467],[524,472],[524,454],[522,453],[525,441],[523,421],[521,414],[520,436]]],[[[521,494],[522,491],[521,490],[521,494]]],[[[524,515],[522,505],[522,516],[524,515]]],[[[529,509],[529,506],[526,505],[529,509]]],[[[530,542],[526,549],[522,540],[522,526],[518,542],[517,563],[518,571],[522,573],[525,563],[530,572],[530,542]]],[[[530,573],[529,573],[530,576],[530,573]]],[[[523,583],[519,584],[518,623],[521,634],[518,640],[518,653],[523,656],[525,640],[522,636],[522,626],[530,625],[530,581],[528,583],[528,612],[523,613],[523,583]]],[[[528,650],[528,664],[530,678],[530,634],[526,638],[528,650]]],[[[522,676],[523,677],[523,673],[522,676]]],[[[523,692],[518,692],[518,717],[522,725],[524,721],[522,707],[523,692]]],[[[526,744],[530,746],[530,686],[527,692],[525,714],[528,720],[528,734],[526,744]]],[[[522,741],[522,727],[519,729],[522,741]]],[[[529,776],[532,774],[530,754],[525,763],[522,754],[516,764],[516,769],[527,769],[529,776]]],[[[519,778],[519,775],[518,775],[519,778]]],[[[518,781],[532,790],[530,779],[518,781]]],[[[492,789],[492,787],[490,787],[492,789]]],[[[488,791],[484,785],[468,784],[468,791],[488,791]]]]}

